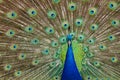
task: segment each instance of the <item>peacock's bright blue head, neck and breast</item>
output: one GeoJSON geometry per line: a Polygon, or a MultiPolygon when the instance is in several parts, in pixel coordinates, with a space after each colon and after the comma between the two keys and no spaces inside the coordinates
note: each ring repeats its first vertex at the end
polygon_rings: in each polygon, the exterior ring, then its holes
{"type": "Polygon", "coordinates": [[[80,73],[77,69],[72,51],[72,37],[68,35],[67,40],[68,49],[61,80],[82,80],[82,77],[80,76],[80,73]]]}

